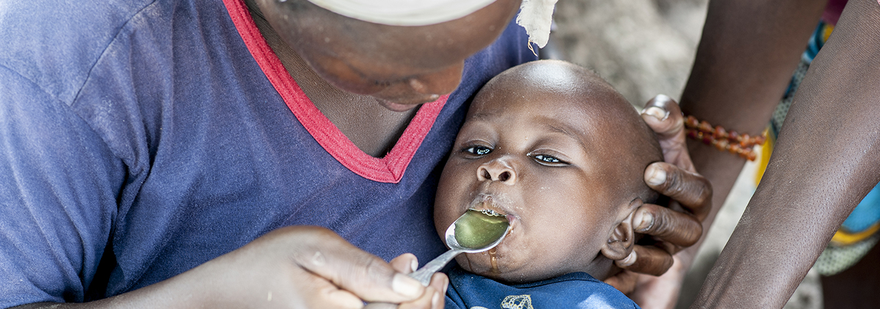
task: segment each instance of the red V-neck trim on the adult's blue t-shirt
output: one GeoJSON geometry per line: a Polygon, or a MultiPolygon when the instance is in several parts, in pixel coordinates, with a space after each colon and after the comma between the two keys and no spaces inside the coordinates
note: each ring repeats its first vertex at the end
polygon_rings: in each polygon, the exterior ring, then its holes
{"type": "Polygon", "coordinates": [[[449,95],[422,104],[400,136],[400,140],[384,158],[370,156],[348,140],[345,134],[305,96],[297,82],[288,74],[281,60],[263,39],[244,2],[224,0],[224,4],[253,59],[260,65],[260,69],[266,74],[290,111],[321,147],[357,175],[381,183],[399,183],[415,151],[422,145],[422,140],[428,135],[431,126],[434,126],[434,120],[440,114],[449,95]]]}

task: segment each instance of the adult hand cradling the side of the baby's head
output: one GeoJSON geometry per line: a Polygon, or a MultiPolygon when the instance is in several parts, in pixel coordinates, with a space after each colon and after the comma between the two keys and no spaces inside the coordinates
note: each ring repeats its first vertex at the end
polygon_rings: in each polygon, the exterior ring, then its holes
{"type": "MultiPolygon", "coordinates": [[[[645,182],[651,189],[670,197],[671,202],[668,207],[642,205],[635,212],[633,223],[636,232],[646,234],[657,242],[649,246],[637,245],[626,259],[615,262],[625,270],[605,282],[627,294],[656,294],[657,291],[650,291],[652,289],[649,287],[669,290],[663,284],[650,283],[650,278],[656,277],[638,274],[660,276],[670,269],[673,255],[700,240],[701,221],[712,209],[712,187],[706,178],[695,173],[687,153],[684,123],[678,104],[670,97],[654,97],[645,105],[642,119],[657,134],[664,152],[664,162],[653,163],[645,169],[645,182]]],[[[684,269],[681,270],[683,273],[684,269]]],[[[680,284],[680,280],[676,284],[680,284]]],[[[678,286],[673,291],[663,291],[663,294],[674,294],[671,295],[674,299],[677,291],[678,286]]]]}

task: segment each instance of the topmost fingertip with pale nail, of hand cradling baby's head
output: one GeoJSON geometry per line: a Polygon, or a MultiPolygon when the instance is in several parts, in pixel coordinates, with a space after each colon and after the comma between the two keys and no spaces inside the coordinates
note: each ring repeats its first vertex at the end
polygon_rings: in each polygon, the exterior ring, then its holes
{"type": "Polygon", "coordinates": [[[642,119],[661,139],[674,138],[678,133],[684,137],[684,117],[678,103],[671,97],[657,95],[651,98],[642,109],[642,119]]]}

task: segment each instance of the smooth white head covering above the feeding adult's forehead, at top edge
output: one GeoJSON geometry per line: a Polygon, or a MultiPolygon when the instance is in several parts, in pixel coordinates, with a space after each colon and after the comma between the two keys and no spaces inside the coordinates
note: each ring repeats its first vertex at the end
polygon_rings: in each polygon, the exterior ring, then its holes
{"type": "MultiPolygon", "coordinates": [[[[285,0],[279,0],[285,1],[285,0]]],[[[327,11],[382,25],[434,25],[463,18],[495,0],[308,0],[327,11]]]]}

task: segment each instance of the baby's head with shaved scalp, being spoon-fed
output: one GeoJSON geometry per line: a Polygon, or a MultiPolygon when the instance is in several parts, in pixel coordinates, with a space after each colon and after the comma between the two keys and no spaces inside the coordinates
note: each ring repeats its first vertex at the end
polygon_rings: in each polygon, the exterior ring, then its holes
{"type": "Polygon", "coordinates": [[[458,255],[462,268],[515,283],[603,271],[632,250],[633,212],[658,197],[643,173],[662,160],[632,105],[590,70],[510,68],[473,99],[437,189],[437,232],[489,209],[514,218],[510,234],[490,253],[458,255]]]}

